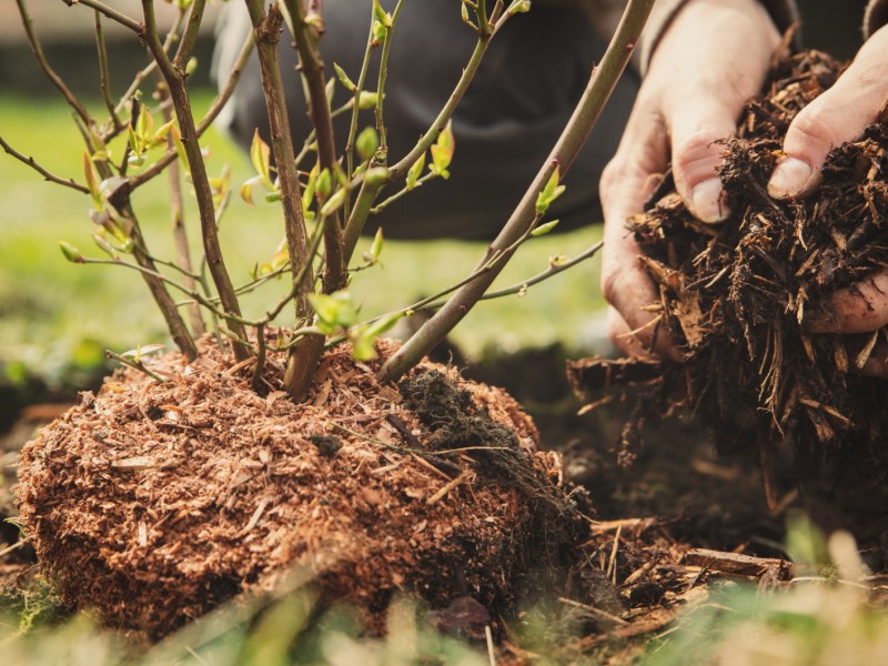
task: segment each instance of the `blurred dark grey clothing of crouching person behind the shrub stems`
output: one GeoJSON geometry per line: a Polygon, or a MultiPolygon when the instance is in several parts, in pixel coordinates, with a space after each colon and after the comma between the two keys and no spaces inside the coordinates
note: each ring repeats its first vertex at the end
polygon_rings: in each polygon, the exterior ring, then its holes
{"type": "MultiPolygon", "coordinates": [[[[391,10],[394,3],[383,4],[391,10]]],[[[457,6],[453,0],[423,0],[407,2],[401,12],[385,91],[390,163],[403,157],[428,129],[474,49],[475,32],[462,22],[457,6]]],[[[321,50],[327,77],[333,75],[336,62],[356,81],[367,39],[370,3],[326,0],[324,18],[326,32],[321,50]]],[[[236,20],[230,17],[226,30],[234,30],[236,20]]],[[[248,22],[242,21],[241,34],[245,34],[248,22]]],[[[296,61],[290,41],[285,32],[281,40],[284,72],[292,72],[296,61]]],[[[232,43],[236,52],[240,41],[232,43]]],[[[451,179],[433,180],[408,193],[372,216],[367,231],[379,224],[390,238],[493,238],[555,144],[605,48],[604,39],[578,10],[534,7],[527,14],[511,18],[491,42],[454,114],[456,151],[451,179]]],[[[373,54],[365,85],[371,91],[376,87],[379,51],[373,54]]],[[[221,62],[221,69],[226,71],[225,62],[221,62]]],[[[301,111],[305,107],[295,75],[291,83],[287,107],[299,147],[311,123],[301,111]]],[[[601,220],[598,179],[616,151],[637,87],[637,75],[627,70],[572,167],[565,194],[551,211],[551,218],[562,220],[559,228],[601,220]]],[[[347,93],[337,85],[334,108],[346,100],[347,93]]],[[[249,149],[256,125],[268,139],[255,54],[231,104],[228,129],[241,145],[249,149]]],[[[349,122],[349,113],[335,121],[340,150],[349,122]]],[[[362,111],[359,131],[373,122],[373,112],[362,111]]]]}

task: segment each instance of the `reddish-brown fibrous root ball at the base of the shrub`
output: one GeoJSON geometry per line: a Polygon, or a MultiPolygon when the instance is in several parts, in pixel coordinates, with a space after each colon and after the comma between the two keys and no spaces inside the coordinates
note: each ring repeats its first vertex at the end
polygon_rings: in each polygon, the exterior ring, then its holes
{"type": "Polygon", "coordinates": [[[159,637],[294,567],[371,627],[395,591],[502,613],[525,582],[551,584],[583,533],[559,457],[502,391],[432,364],[398,391],[343,350],[296,405],[202,352],[154,361],[164,383],[113,375],[22,451],[44,571],[111,625],[159,637]]]}

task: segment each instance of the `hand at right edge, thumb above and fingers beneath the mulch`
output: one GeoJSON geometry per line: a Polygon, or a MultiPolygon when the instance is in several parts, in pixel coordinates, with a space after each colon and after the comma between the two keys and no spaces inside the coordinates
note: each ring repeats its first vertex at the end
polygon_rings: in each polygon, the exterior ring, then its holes
{"type": "MultiPolygon", "coordinates": [[[[827,154],[859,139],[879,115],[888,98],[888,26],[860,48],[838,81],[803,109],[784,139],[768,193],[775,199],[799,199],[817,189],[827,154]]],[[[805,317],[810,333],[867,333],[888,325],[888,269],[838,290],[811,307],[805,317]]],[[[888,347],[879,345],[861,369],[888,379],[888,347]]]]}

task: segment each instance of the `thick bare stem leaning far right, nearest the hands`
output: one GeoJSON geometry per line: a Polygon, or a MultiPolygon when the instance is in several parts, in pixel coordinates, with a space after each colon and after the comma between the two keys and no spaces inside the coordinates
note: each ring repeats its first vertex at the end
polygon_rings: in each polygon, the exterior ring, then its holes
{"type": "MultiPolygon", "coordinates": [[[[573,164],[626,68],[653,4],[654,0],[629,0],[627,3],[604,59],[599,67],[593,69],[586,90],[574,109],[571,120],[521,203],[491,244],[482,259],[482,264],[487,263],[490,258],[496,253],[505,252],[507,260],[512,254],[508,249],[532,228],[536,218],[535,204],[539,192],[555,169],[558,169],[561,178],[564,178],[573,164]]],[[[505,265],[505,261],[500,262],[493,270],[480,275],[456,292],[444,307],[386,361],[380,370],[380,379],[382,381],[397,380],[444,340],[447,333],[484,295],[503,265],[505,265]]]]}

